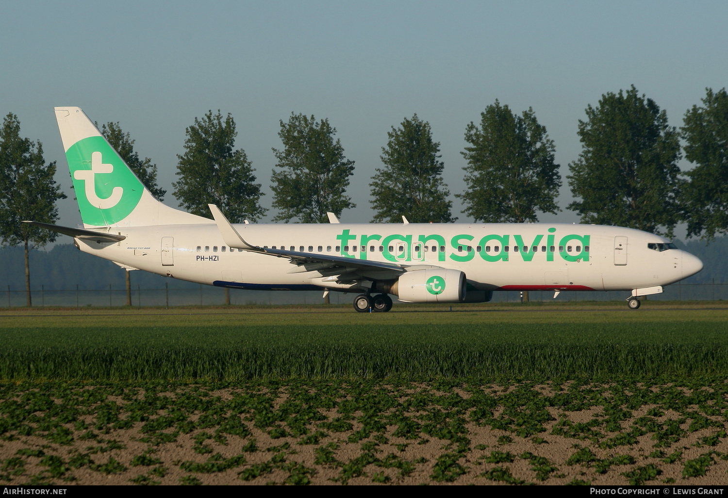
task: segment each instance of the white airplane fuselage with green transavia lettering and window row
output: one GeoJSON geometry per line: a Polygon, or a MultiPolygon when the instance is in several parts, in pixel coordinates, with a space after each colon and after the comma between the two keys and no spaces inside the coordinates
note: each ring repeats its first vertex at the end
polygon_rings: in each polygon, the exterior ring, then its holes
{"type": "MultiPolygon", "coordinates": [[[[458,269],[479,291],[629,291],[668,285],[703,267],[683,250],[648,248],[667,242],[660,236],[616,226],[237,224],[235,229],[258,247],[458,269]]],[[[286,258],[231,251],[213,221],[112,227],[108,232],[126,238],[116,243],[76,239],[76,244],[122,266],[207,285],[271,290],[327,287],[316,271],[291,272],[296,265],[286,258]]]]}

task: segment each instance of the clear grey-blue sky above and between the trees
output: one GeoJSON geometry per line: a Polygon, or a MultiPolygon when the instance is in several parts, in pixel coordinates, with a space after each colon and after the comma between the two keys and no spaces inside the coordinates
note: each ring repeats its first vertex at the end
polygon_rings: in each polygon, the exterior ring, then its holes
{"type": "MultiPolygon", "coordinates": [[[[634,84],[679,126],[705,87],[728,86],[725,1],[4,1],[1,12],[0,113],[17,114],[23,135],[58,159],[66,191],[52,108],[80,106],[132,134],[170,205],[185,127],[208,109],[233,114],[266,207],[279,119],[328,118],[356,161],[357,208],[343,221],[366,222],[369,178],[405,116],[432,125],[454,194],[465,126],[496,98],[534,108],[565,177],[577,121],[603,93],[634,84]]],[[[578,221],[563,180],[563,213],[541,221],[578,221]]],[[[72,198],[59,224],[80,222],[72,198]]]]}

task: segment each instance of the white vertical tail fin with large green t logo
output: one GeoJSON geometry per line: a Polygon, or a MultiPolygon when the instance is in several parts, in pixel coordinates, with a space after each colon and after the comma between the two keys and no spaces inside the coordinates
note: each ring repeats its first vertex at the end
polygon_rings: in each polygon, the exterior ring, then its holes
{"type": "Polygon", "coordinates": [[[86,228],[213,223],[154,199],[80,108],[55,117],[86,228]]]}

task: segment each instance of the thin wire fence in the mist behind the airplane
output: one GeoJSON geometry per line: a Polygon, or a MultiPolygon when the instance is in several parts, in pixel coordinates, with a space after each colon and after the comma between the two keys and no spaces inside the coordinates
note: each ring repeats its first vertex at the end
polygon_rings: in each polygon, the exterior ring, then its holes
{"type": "MultiPolygon", "coordinates": [[[[3,291],[5,299],[1,307],[25,307],[25,290],[7,286],[3,291]]],[[[628,291],[562,291],[554,299],[553,291],[530,291],[530,301],[573,302],[573,301],[624,301],[630,296],[628,291]]],[[[331,292],[332,304],[349,304],[354,293],[331,292]]],[[[396,298],[396,296],[393,296],[396,298]]],[[[119,307],[127,305],[127,290],[112,288],[64,290],[40,289],[31,291],[34,307],[119,307]]],[[[519,291],[500,291],[493,293],[491,302],[521,302],[519,291]]],[[[662,294],[648,297],[653,301],[722,301],[728,300],[728,283],[701,283],[668,285],[662,294]]],[[[396,300],[395,300],[396,302],[396,300]]],[[[199,285],[197,288],[141,288],[131,289],[131,304],[134,307],[173,307],[173,306],[217,306],[225,303],[223,288],[199,285]]],[[[323,291],[243,291],[230,289],[230,304],[322,304],[323,291]]]]}

